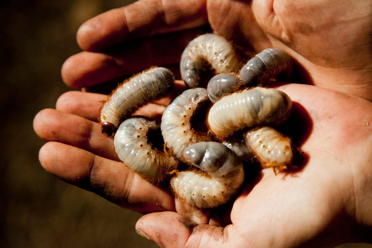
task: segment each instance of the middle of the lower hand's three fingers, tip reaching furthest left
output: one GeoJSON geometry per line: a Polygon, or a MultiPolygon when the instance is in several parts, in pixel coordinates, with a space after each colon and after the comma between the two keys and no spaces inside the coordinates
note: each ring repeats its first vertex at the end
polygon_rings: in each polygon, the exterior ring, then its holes
{"type": "Polygon", "coordinates": [[[96,122],[55,109],[41,110],[33,120],[36,134],[46,141],[57,141],[119,161],[113,139],[103,135],[96,122]]]}

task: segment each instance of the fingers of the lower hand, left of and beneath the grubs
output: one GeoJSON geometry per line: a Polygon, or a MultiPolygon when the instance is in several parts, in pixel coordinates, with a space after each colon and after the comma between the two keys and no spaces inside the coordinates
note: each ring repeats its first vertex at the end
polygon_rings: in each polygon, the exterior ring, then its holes
{"type": "MultiPolygon", "coordinates": [[[[135,114],[159,119],[173,95],[184,89],[185,84],[176,80],[169,96],[135,114]]],[[[69,91],[59,97],[56,109],[44,109],[35,116],[36,134],[48,141],[39,151],[41,165],[63,181],[136,212],[174,210],[169,190],[125,167],[115,152],[113,137],[101,132],[98,122],[105,100],[103,94],[69,91]]]]}

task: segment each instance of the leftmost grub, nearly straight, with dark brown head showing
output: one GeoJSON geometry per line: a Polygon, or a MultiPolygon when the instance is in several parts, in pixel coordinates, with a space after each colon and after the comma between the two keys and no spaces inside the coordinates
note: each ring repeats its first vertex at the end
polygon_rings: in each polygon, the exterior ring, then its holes
{"type": "Polygon", "coordinates": [[[174,85],[173,73],[164,67],[150,68],[120,84],[103,105],[102,132],[108,136],[139,107],[165,96],[174,85]]]}

